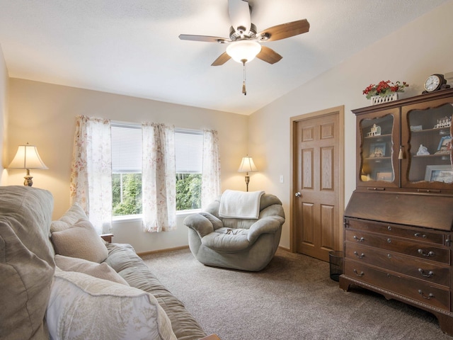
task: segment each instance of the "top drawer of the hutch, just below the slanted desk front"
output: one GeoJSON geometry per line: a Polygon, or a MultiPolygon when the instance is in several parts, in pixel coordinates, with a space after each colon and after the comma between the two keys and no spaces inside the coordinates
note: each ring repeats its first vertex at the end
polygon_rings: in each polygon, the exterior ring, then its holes
{"type": "Polygon", "coordinates": [[[370,222],[364,220],[348,219],[348,225],[351,229],[360,229],[368,232],[379,232],[390,236],[405,237],[422,242],[435,244],[444,244],[445,234],[429,231],[428,229],[408,229],[391,223],[370,222]]]}

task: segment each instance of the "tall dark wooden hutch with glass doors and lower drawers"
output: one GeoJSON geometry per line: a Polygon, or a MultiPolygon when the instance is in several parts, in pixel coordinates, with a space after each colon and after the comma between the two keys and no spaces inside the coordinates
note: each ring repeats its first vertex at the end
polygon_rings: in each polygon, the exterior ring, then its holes
{"type": "Polygon", "coordinates": [[[453,89],[353,110],[356,190],[340,288],[435,314],[453,335],[453,89]]]}

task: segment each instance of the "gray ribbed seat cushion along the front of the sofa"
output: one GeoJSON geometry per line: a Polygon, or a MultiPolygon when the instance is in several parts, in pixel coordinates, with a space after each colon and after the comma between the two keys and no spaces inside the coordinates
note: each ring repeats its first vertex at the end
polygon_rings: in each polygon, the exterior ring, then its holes
{"type": "Polygon", "coordinates": [[[178,340],[198,340],[206,336],[197,320],[185,309],[183,302],[159,282],[130,244],[108,244],[107,248],[109,254],[105,262],[132,287],[156,297],[170,319],[173,333],[178,340]]]}

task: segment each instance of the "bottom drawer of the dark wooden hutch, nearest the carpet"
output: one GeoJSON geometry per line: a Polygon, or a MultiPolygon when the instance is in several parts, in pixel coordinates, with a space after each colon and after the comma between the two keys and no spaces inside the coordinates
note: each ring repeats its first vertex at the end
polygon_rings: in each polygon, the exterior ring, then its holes
{"type": "Polygon", "coordinates": [[[396,276],[349,259],[345,259],[345,275],[427,305],[450,310],[449,290],[434,287],[430,283],[406,276],[396,276]]]}

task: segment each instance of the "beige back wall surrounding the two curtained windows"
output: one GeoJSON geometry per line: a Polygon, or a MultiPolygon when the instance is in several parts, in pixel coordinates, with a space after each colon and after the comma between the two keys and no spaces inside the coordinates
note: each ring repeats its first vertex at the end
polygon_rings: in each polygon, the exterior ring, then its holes
{"type": "MultiPolygon", "coordinates": [[[[241,157],[247,152],[246,115],[21,79],[10,79],[9,99],[6,163],[11,162],[17,145],[29,142],[38,147],[42,161],[49,169],[31,171],[33,186],[46,188],[54,195],[54,219],[69,208],[69,175],[76,115],[217,130],[223,189],[243,190],[243,176],[237,169],[241,157]]],[[[8,170],[5,184],[22,184],[24,174],[22,170],[8,170]]],[[[182,225],[182,218],[178,218],[176,231],[160,234],[143,233],[139,222],[115,223],[114,241],[130,243],[139,252],[187,245],[188,231],[182,225]]]]}

